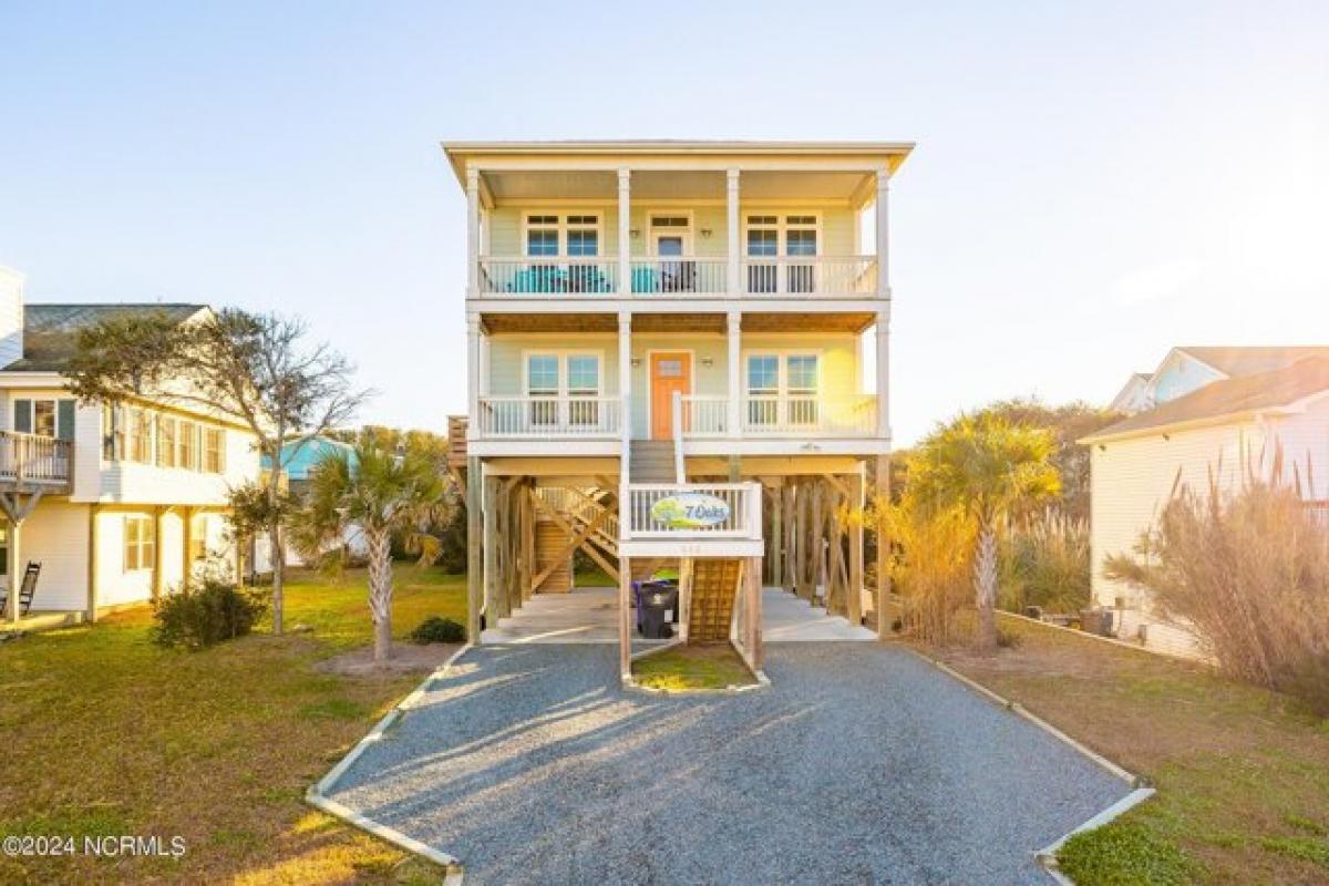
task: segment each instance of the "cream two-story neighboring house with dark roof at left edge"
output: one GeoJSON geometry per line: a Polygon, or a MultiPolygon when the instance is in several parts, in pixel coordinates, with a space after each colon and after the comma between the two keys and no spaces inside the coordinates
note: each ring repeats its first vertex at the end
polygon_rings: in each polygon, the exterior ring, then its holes
{"type": "Polygon", "coordinates": [[[202,563],[234,567],[227,490],[259,474],[253,434],[161,402],[78,404],[61,376],[78,328],[142,311],[187,323],[210,308],[25,304],[23,276],[0,268],[0,583],[41,565],[28,615],[11,592],[0,626],[96,618],[202,563]]]}

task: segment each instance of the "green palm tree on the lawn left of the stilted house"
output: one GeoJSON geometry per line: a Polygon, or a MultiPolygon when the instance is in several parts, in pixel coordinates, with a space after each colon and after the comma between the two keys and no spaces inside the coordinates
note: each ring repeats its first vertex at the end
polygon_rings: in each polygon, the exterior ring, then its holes
{"type": "Polygon", "coordinates": [[[419,452],[393,454],[361,437],[354,454],[336,453],[310,476],[304,506],[295,519],[300,550],[340,567],[346,539],[359,533],[369,553],[369,616],[373,660],[392,652],[392,537],[405,539],[421,563],[439,555],[439,539],[424,531],[444,505],[445,484],[433,461],[419,452]]]}

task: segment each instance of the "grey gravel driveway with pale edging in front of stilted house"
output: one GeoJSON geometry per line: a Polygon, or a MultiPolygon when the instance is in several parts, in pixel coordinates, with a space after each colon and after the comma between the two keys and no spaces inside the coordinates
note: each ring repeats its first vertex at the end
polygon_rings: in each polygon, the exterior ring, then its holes
{"type": "Polygon", "coordinates": [[[1128,789],[905,650],[768,644],[768,689],[643,696],[613,646],[480,647],[331,792],[466,883],[1047,883],[1128,789]]]}

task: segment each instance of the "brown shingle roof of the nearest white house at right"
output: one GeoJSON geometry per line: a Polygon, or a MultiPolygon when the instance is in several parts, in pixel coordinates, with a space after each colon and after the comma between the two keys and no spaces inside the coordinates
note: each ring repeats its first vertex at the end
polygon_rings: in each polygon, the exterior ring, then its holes
{"type": "MultiPolygon", "coordinates": [[[[1286,351],[1288,348],[1282,348],[1286,351]]],[[[1192,391],[1184,397],[1108,425],[1082,444],[1094,444],[1187,424],[1208,424],[1239,418],[1256,412],[1290,406],[1306,397],[1329,392],[1329,349],[1322,356],[1305,357],[1272,372],[1223,379],[1192,391]]]]}

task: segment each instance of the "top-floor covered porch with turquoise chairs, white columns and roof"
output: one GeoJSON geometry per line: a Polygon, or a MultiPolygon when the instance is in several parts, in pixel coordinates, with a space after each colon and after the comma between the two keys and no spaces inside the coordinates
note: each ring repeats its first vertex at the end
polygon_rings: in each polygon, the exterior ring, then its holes
{"type": "Polygon", "coordinates": [[[447,145],[466,191],[466,296],[534,311],[888,299],[886,194],[909,147],[447,145]]]}

